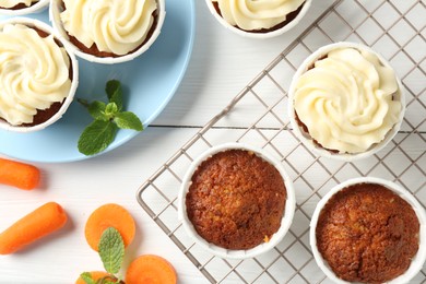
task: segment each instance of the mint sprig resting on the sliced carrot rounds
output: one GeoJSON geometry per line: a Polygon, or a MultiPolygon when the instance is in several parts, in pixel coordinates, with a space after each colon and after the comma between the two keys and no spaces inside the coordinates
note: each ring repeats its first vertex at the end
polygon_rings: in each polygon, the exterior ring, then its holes
{"type": "Polygon", "coordinates": [[[105,229],[100,236],[98,248],[100,260],[109,274],[97,281],[92,277],[90,272],[83,272],[80,274],[80,277],[86,284],[121,283],[120,277],[117,275],[125,258],[125,241],[120,233],[115,227],[105,229]]]}

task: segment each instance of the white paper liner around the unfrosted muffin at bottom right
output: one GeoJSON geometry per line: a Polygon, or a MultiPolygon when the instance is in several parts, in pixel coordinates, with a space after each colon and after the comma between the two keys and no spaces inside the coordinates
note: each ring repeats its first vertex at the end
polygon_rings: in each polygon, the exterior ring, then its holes
{"type": "Polygon", "coordinates": [[[317,235],[316,235],[316,228],[318,223],[318,217],[321,212],[321,210],[324,208],[327,202],[330,200],[332,196],[334,196],[336,192],[343,190],[344,188],[347,188],[353,185],[357,184],[376,184],[381,185],[386,187],[389,190],[392,190],[394,193],[397,193],[399,197],[401,197],[403,200],[405,200],[414,210],[414,212],[417,215],[418,223],[421,225],[419,227],[419,245],[418,245],[418,251],[415,255],[415,257],[412,260],[412,263],[410,268],[400,276],[397,279],[393,279],[390,282],[387,282],[388,284],[401,284],[401,283],[410,283],[410,281],[422,270],[423,264],[426,260],[426,213],[423,209],[422,204],[418,203],[418,201],[404,188],[401,186],[391,182],[386,179],[381,178],[375,178],[375,177],[360,177],[360,178],[353,178],[350,180],[346,180],[345,182],[342,182],[335,187],[333,187],[317,204],[317,208],[313,212],[312,218],[310,221],[310,230],[309,230],[309,242],[310,247],[313,253],[313,258],[317,261],[318,267],[322,270],[322,272],[334,283],[351,283],[344,280],[339,279],[335,273],[331,270],[327,261],[322,258],[321,253],[318,250],[317,247],[317,235]]]}

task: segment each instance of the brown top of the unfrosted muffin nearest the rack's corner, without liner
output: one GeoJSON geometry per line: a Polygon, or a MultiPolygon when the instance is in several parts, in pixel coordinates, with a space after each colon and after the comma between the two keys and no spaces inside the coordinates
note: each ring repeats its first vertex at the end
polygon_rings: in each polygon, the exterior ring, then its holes
{"type": "Polygon", "coordinates": [[[280,229],[286,202],[280,171],[251,151],[233,149],[205,159],[191,177],[188,218],[206,241],[247,250],[280,229]]]}

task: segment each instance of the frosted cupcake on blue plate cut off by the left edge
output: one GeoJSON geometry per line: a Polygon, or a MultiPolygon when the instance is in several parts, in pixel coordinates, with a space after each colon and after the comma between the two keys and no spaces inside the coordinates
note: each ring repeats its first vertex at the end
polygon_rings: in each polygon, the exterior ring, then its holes
{"type": "Polygon", "coordinates": [[[0,128],[29,132],[58,120],[78,84],[75,57],[35,20],[0,23],[0,128]]]}

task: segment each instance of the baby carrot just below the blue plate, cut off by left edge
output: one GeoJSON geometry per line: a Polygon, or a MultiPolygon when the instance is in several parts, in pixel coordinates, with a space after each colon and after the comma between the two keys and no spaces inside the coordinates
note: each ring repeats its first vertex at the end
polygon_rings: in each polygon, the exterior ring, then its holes
{"type": "Polygon", "coordinates": [[[0,158],[0,184],[24,190],[37,187],[40,171],[37,167],[16,161],[0,158]]]}

